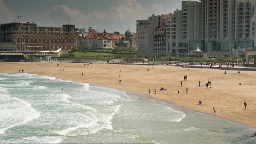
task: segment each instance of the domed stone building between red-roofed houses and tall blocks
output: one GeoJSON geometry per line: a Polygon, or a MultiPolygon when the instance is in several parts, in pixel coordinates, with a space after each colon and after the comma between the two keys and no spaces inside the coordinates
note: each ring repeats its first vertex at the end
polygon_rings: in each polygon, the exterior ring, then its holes
{"type": "Polygon", "coordinates": [[[127,29],[124,35],[121,36],[121,40],[116,43],[117,47],[124,47],[137,51],[136,33],[133,33],[131,29],[127,29]]]}

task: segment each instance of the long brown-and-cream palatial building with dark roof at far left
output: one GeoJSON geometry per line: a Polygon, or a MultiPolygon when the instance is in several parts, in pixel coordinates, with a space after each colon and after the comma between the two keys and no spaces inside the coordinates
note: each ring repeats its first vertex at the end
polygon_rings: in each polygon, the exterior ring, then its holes
{"type": "Polygon", "coordinates": [[[75,25],[39,27],[34,22],[0,25],[0,51],[70,51],[77,46],[75,25]]]}

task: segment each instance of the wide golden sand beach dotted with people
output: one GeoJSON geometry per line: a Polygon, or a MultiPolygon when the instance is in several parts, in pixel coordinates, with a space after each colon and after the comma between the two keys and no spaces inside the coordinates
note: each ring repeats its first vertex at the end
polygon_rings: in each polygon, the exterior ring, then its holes
{"type": "Polygon", "coordinates": [[[224,74],[224,70],[166,65],[84,65],[83,63],[44,62],[2,62],[2,64],[0,73],[19,73],[19,70],[22,73],[23,69],[24,73],[28,74],[96,83],[143,94],[148,94],[148,90],[151,89],[150,96],[154,99],[210,113],[256,128],[256,75],[253,71],[241,71],[241,73],[227,71],[228,74],[224,74]],[[149,69],[148,72],[147,69],[149,69]],[[187,81],[184,81],[184,75],[187,75],[187,81]],[[199,85],[199,80],[201,85],[206,85],[208,79],[211,80],[209,86],[211,88],[195,87],[199,85]],[[121,80],[121,84],[118,80],[121,80]],[[181,81],[183,86],[179,87],[181,81]],[[167,90],[160,91],[161,87],[167,90]],[[185,92],[186,87],[188,87],[188,94],[185,92]],[[156,88],[157,94],[154,94],[154,88],[156,88]],[[202,105],[198,105],[199,100],[203,101],[202,105]],[[243,106],[244,100],[247,102],[246,110],[243,106]],[[213,107],[216,109],[216,113],[213,113],[213,107]]]}

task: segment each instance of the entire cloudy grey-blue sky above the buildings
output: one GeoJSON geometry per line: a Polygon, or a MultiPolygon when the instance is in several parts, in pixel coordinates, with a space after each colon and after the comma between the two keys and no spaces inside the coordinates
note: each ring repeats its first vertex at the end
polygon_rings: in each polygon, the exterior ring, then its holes
{"type": "Polygon", "coordinates": [[[37,26],[93,27],[100,32],[136,33],[136,20],[181,9],[181,0],[0,0],[0,23],[36,22],[37,26]],[[18,19],[18,15],[22,18],[18,19]]]}

